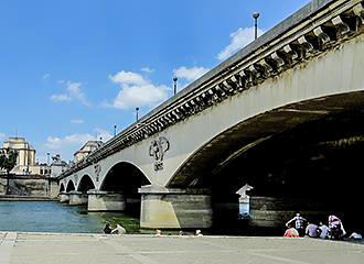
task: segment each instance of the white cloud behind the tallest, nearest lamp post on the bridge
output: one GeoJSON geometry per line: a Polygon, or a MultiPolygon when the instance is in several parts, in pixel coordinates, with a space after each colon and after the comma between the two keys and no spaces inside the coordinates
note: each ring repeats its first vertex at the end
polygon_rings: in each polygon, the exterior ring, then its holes
{"type": "MultiPolygon", "coordinates": [[[[263,33],[264,31],[258,29],[258,35],[261,35],[263,33]]],[[[254,26],[244,29],[239,28],[231,34],[231,43],[221,53],[218,53],[217,58],[221,61],[228,58],[231,55],[254,41],[254,26]]]]}

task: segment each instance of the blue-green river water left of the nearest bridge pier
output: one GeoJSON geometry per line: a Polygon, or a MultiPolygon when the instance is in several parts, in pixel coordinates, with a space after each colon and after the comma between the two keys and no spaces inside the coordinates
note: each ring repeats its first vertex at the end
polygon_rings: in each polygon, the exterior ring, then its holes
{"type": "Polygon", "coordinates": [[[124,213],[87,212],[57,201],[0,201],[0,231],[101,233],[105,223],[139,233],[139,219],[124,213]]]}

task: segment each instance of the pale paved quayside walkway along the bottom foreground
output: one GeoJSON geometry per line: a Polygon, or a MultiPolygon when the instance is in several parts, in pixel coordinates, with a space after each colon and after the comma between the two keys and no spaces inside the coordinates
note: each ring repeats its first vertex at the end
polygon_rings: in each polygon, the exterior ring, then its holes
{"type": "Polygon", "coordinates": [[[0,232],[1,264],[364,263],[364,245],[314,239],[0,232]]]}

